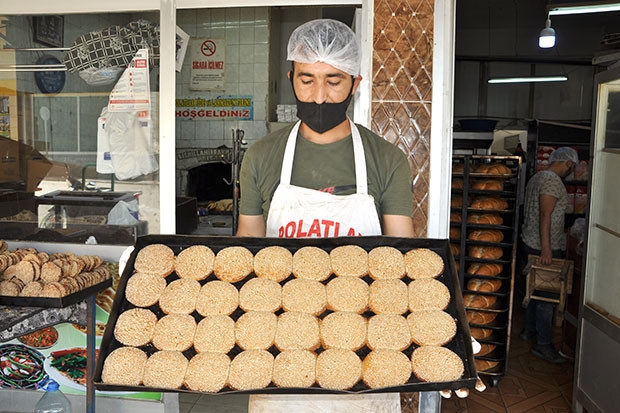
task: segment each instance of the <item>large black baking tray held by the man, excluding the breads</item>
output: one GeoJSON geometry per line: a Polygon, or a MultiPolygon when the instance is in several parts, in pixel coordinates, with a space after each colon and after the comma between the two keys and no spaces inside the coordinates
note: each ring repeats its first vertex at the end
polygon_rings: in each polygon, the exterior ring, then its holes
{"type": "MultiPolygon", "coordinates": [[[[446,311],[452,315],[457,321],[457,334],[454,339],[445,345],[445,347],[454,351],[462,360],[465,367],[463,376],[459,380],[450,381],[450,382],[441,382],[441,383],[432,383],[432,382],[421,382],[419,381],[413,374],[411,375],[409,382],[407,384],[401,386],[393,386],[393,387],[385,387],[380,389],[370,389],[368,388],[362,381],[360,381],[357,385],[347,391],[335,391],[330,389],[324,389],[318,386],[306,387],[306,388],[282,388],[276,387],[273,384],[270,384],[267,388],[257,389],[257,390],[249,390],[249,391],[237,391],[232,390],[229,387],[224,387],[219,393],[280,393],[280,394],[309,394],[309,393],[370,393],[370,392],[413,392],[413,391],[437,391],[437,390],[456,390],[459,388],[470,388],[473,389],[476,382],[476,367],[474,364],[472,348],[471,348],[471,336],[469,332],[469,324],[467,323],[467,318],[465,316],[465,308],[463,307],[463,297],[460,288],[460,284],[458,281],[456,268],[454,264],[454,259],[452,258],[452,254],[450,253],[450,244],[447,239],[416,239],[416,238],[397,238],[397,237],[341,237],[341,238],[306,238],[306,239],[274,239],[274,238],[252,238],[252,237],[228,237],[228,236],[185,236],[185,235],[146,235],[143,237],[139,237],[135,244],[135,249],[129,257],[127,261],[125,270],[121,276],[119,285],[117,287],[116,296],[114,298],[114,304],[112,306],[112,310],[110,312],[107,327],[105,333],[103,335],[99,357],[97,358],[97,366],[95,368],[94,379],[93,382],[95,387],[98,390],[105,391],[165,391],[165,392],[181,392],[181,393],[195,393],[190,390],[186,390],[184,388],[181,389],[159,389],[159,388],[151,388],[144,386],[120,386],[120,385],[112,385],[103,383],[101,380],[101,372],[103,369],[103,363],[113,350],[118,347],[121,347],[121,343],[119,343],[114,338],[114,326],[116,325],[116,320],[120,313],[123,311],[133,308],[134,306],[129,303],[125,299],[125,287],[127,285],[127,280],[131,277],[133,273],[133,266],[135,262],[136,255],[138,251],[151,244],[165,244],[168,245],[175,254],[178,255],[180,251],[184,248],[187,248],[192,245],[206,245],[210,247],[213,252],[217,253],[220,249],[228,246],[244,246],[248,248],[252,253],[256,254],[261,248],[265,248],[272,245],[279,245],[285,248],[288,248],[292,253],[295,253],[299,248],[304,246],[316,246],[324,249],[329,252],[333,248],[340,245],[359,245],[362,248],[365,248],[367,251],[370,251],[372,248],[377,246],[391,246],[399,249],[401,252],[406,252],[413,248],[428,248],[436,253],[438,253],[445,262],[446,268],[442,276],[437,279],[443,282],[449,289],[452,299],[448,305],[446,311]]],[[[241,281],[245,282],[247,279],[254,277],[251,274],[246,280],[241,281]]],[[[170,282],[176,279],[176,274],[171,274],[166,277],[167,282],[170,282]]],[[[207,277],[207,279],[202,280],[201,284],[204,284],[208,281],[212,281],[216,279],[214,275],[207,277]]],[[[285,283],[290,278],[287,278],[283,281],[285,283]]],[[[331,278],[330,278],[331,279],[331,278]]],[[[325,282],[329,282],[329,280],[325,282]]],[[[411,280],[408,277],[404,277],[403,281],[405,283],[410,282],[411,280]]],[[[153,306],[157,307],[157,306],[153,306]]],[[[154,310],[153,307],[149,307],[149,309],[154,310]]],[[[158,307],[157,307],[158,309],[158,307]]],[[[158,310],[156,314],[159,316],[163,316],[163,312],[158,310]]],[[[238,310],[239,311],[239,310],[238,310]]],[[[329,312],[325,312],[323,315],[328,314],[329,312]]],[[[241,313],[236,315],[233,313],[231,317],[236,319],[240,316],[241,313]]],[[[278,313],[276,313],[278,314],[278,313]]],[[[372,315],[372,313],[366,313],[365,315],[372,315]]],[[[194,312],[193,315],[199,319],[200,316],[194,312]]],[[[322,315],[322,316],[323,316],[322,315]]],[[[405,313],[405,316],[407,313],[405,313]]],[[[320,316],[319,318],[321,318],[320,316]]],[[[416,348],[415,345],[411,345],[408,349],[404,351],[407,356],[410,356],[413,350],[416,348]]],[[[156,349],[152,346],[152,344],[148,344],[146,346],[141,347],[147,354],[152,354],[156,351],[156,349]]],[[[229,353],[229,355],[234,357],[234,355],[238,354],[241,350],[235,346],[233,350],[229,353]]],[[[277,355],[278,350],[273,346],[269,349],[269,351],[277,355]]],[[[317,350],[317,352],[319,352],[317,350]]],[[[364,358],[364,356],[369,352],[367,347],[363,347],[362,349],[357,351],[357,354],[360,358],[364,358]]],[[[185,356],[188,359],[195,354],[195,350],[190,348],[186,352],[184,352],[185,356]]],[[[205,372],[205,374],[208,374],[205,372]]]]}

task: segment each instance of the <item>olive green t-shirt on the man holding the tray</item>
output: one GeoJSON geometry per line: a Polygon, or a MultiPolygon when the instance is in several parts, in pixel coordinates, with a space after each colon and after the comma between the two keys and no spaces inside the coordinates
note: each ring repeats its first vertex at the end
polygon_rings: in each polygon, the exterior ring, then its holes
{"type": "MultiPolygon", "coordinates": [[[[267,220],[273,193],[280,183],[284,149],[292,127],[272,132],[248,147],[239,175],[241,214],[263,214],[267,220]]],[[[372,131],[361,125],[357,127],[366,157],[368,193],[374,198],[379,217],[412,216],[412,177],[405,154],[372,131]]],[[[298,134],[291,185],[333,195],[355,193],[352,137],[323,145],[298,134]]]]}

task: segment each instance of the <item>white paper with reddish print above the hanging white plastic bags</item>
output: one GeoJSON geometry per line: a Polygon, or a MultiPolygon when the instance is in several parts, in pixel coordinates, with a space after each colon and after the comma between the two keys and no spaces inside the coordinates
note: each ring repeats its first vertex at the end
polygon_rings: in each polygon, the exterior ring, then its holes
{"type": "Polygon", "coordinates": [[[151,106],[148,49],[140,49],[123,72],[108,100],[110,112],[148,111],[151,106]]]}

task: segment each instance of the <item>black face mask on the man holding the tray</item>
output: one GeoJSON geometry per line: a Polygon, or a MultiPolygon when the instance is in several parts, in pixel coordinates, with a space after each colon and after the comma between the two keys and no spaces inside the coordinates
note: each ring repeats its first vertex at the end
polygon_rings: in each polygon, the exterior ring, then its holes
{"type": "Polygon", "coordinates": [[[295,101],[297,102],[297,117],[301,119],[303,123],[308,125],[310,129],[317,133],[324,133],[344,122],[347,119],[347,108],[353,98],[353,85],[355,78],[353,76],[351,83],[351,91],[349,96],[340,103],[316,103],[316,102],[301,102],[297,99],[295,93],[295,85],[293,84],[294,72],[291,71],[291,86],[293,87],[293,95],[295,95],[295,101]]]}

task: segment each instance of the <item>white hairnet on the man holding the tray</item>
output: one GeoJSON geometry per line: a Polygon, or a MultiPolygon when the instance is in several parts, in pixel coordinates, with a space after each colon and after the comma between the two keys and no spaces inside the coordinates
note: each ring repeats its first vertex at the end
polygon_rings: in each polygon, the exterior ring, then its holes
{"type": "Polygon", "coordinates": [[[311,20],[293,31],[286,60],[323,62],[352,76],[360,74],[360,47],[349,26],[332,19],[311,20]]]}

